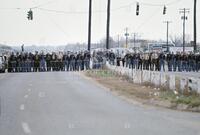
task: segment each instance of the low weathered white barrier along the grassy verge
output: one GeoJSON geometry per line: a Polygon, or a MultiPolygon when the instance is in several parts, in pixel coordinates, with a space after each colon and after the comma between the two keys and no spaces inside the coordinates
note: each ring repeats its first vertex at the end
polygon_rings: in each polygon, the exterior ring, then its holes
{"type": "Polygon", "coordinates": [[[163,87],[173,91],[195,91],[200,93],[200,73],[197,73],[199,76],[186,76],[184,73],[129,69],[110,65],[109,63],[106,66],[110,70],[130,77],[133,83],[150,83],[155,85],[155,87],[163,87]]]}

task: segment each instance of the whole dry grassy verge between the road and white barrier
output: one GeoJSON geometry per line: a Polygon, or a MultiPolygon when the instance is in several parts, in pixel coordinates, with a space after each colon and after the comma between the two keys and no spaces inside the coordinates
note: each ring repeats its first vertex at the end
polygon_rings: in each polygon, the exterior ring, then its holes
{"type": "MultiPolygon", "coordinates": [[[[177,95],[165,86],[156,88],[155,85],[148,82],[134,84],[132,83],[132,79],[128,76],[121,75],[108,69],[87,71],[86,75],[109,88],[111,92],[129,100],[136,100],[141,103],[154,104],[173,109],[179,104],[188,105],[188,108],[200,106],[200,96],[198,94],[186,96],[179,93],[177,95]],[[154,103],[152,103],[152,100],[154,103]]],[[[176,89],[178,88],[176,87],[176,89]]]]}

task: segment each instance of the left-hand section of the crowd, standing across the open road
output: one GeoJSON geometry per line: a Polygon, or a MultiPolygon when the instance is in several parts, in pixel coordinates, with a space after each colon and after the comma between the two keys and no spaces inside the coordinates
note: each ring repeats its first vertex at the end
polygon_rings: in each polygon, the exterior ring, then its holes
{"type": "Polygon", "coordinates": [[[8,58],[8,72],[82,71],[90,69],[90,52],[17,52],[8,58]]]}

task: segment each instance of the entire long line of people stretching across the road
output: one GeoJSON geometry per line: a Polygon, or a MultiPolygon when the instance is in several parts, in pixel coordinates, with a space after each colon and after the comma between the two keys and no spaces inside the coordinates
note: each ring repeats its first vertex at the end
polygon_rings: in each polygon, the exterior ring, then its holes
{"type": "Polygon", "coordinates": [[[8,72],[83,71],[111,65],[138,70],[199,72],[200,54],[194,53],[131,53],[113,51],[81,51],[12,53],[8,58],[8,72]],[[92,66],[91,64],[92,63],[92,66]]]}

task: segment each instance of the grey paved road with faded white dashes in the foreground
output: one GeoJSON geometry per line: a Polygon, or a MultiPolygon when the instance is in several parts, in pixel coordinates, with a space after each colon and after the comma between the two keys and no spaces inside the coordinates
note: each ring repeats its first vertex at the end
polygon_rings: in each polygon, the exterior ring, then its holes
{"type": "Polygon", "coordinates": [[[0,135],[200,135],[200,114],[129,104],[77,73],[0,74],[0,135]]]}

